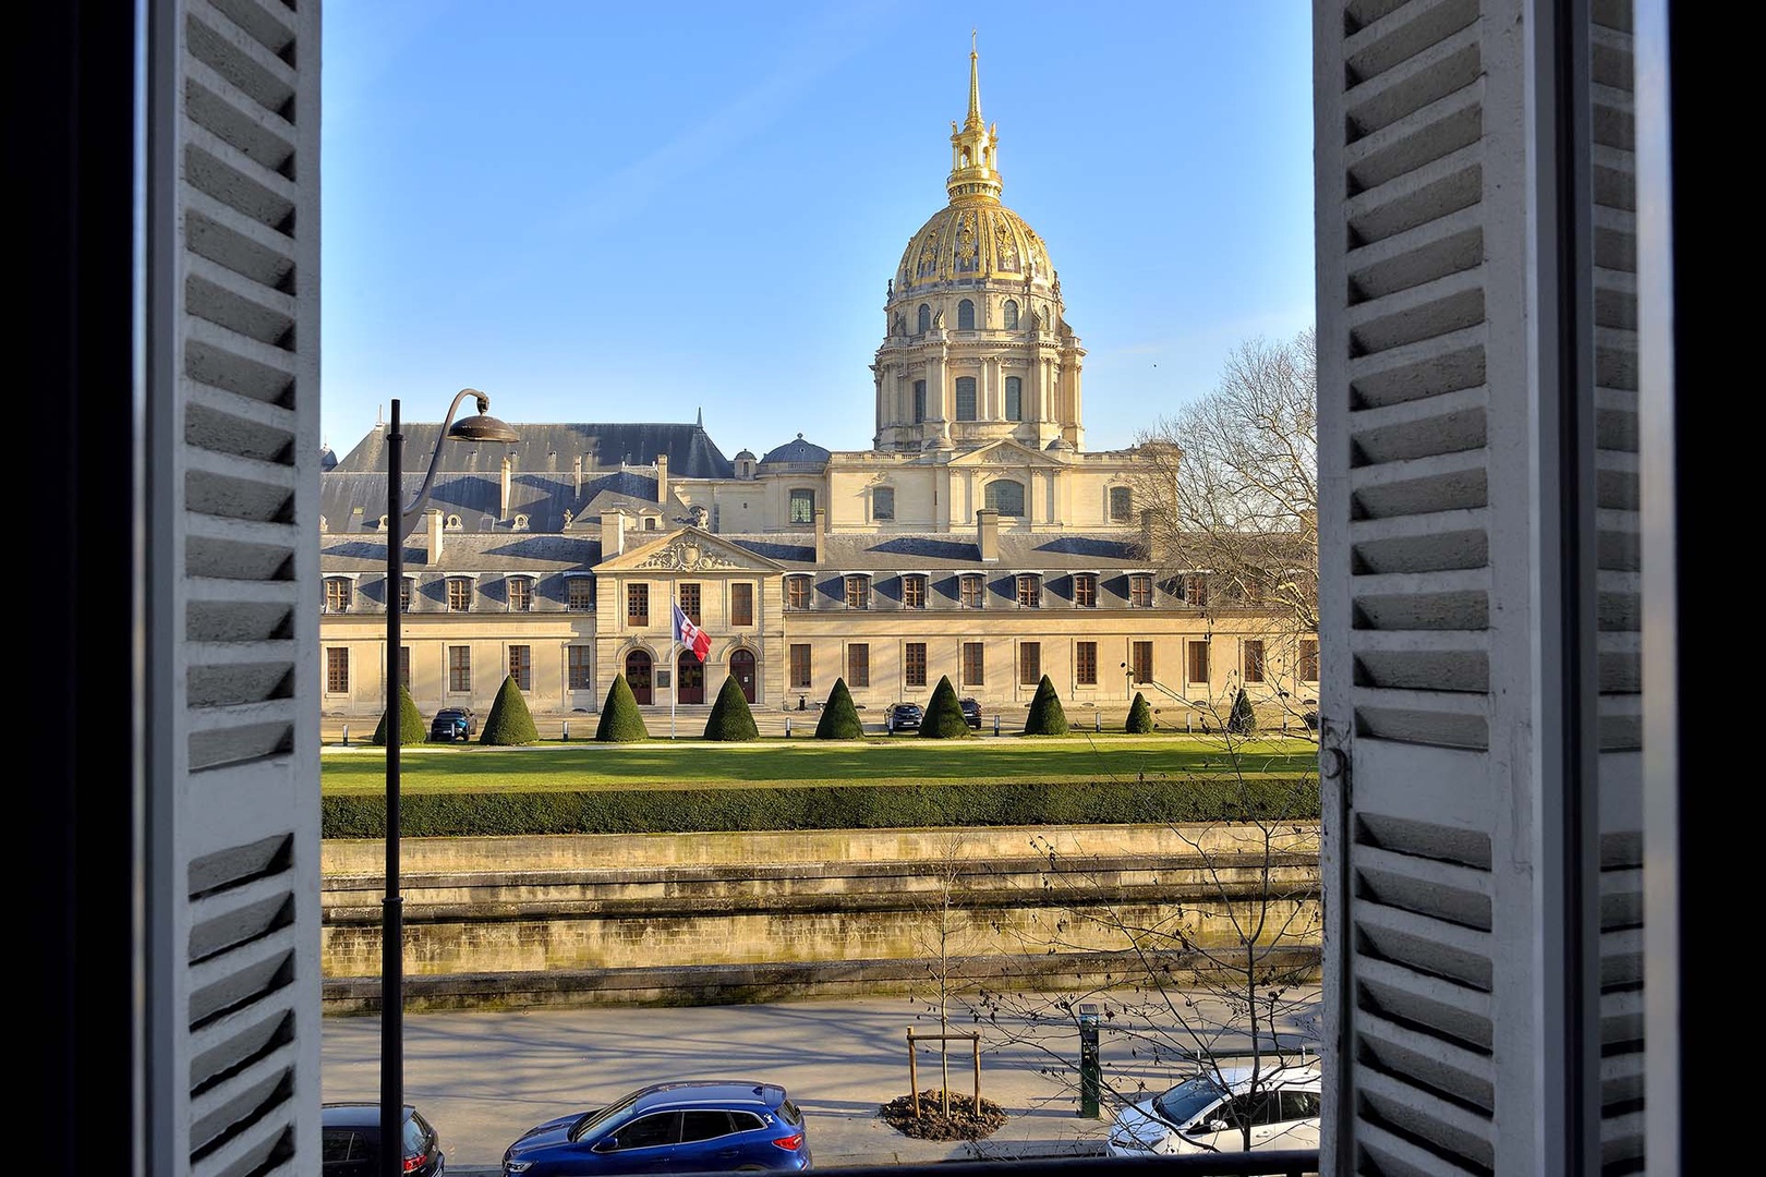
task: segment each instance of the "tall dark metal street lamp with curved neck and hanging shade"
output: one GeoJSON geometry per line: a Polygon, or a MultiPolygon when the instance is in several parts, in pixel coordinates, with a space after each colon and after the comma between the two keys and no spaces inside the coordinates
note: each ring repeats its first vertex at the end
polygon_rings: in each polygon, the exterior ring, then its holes
{"type": "Polygon", "coordinates": [[[404,536],[417,526],[429,487],[442,462],[442,443],[516,441],[516,431],[487,416],[491,397],[461,388],[442,422],[442,436],[429,457],[429,473],[417,499],[404,506],[404,434],[399,432],[399,402],[392,401],[387,429],[387,898],[380,921],[380,1163],[385,1177],[404,1177],[404,900],[399,896],[399,621],[403,612],[404,536]],[[461,401],[477,397],[479,415],[457,425],[461,401]]]}

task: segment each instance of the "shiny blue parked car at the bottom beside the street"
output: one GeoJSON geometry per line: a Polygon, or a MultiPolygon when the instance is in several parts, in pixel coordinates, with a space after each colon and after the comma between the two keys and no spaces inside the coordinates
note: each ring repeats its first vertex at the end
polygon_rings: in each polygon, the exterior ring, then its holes
{"type": "Polygon", "coordinates": [[[784,1087],[740,1080],[639,1087],[530,1128],[503,1151],[503,1177],[807,1168],[804,1113],[784,1087]]]}

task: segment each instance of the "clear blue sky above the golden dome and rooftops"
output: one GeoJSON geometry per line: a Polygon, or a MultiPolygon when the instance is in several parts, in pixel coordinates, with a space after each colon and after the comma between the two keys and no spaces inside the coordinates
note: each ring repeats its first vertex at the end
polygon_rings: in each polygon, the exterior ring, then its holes
{"type": "Polygon", "coordinates": [[[978,30],[1003,201],[1088,349],[1086,448],[1312,321],[1310,7],[341,0],[323,439],[517,422],[869,448],[885,284],[945,205],[978,30]]]}

